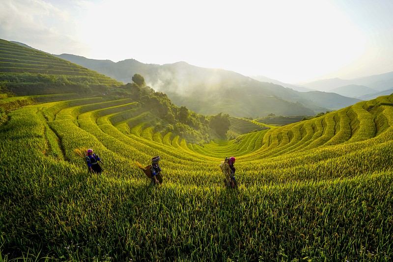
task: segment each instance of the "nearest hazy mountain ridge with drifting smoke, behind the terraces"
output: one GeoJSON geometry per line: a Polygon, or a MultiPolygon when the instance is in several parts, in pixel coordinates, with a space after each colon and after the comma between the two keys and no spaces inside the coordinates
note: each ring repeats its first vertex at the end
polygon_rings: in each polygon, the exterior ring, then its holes
{"type": "Polygon", "coordinates": [[[294,86],[286,88],[272,81],[261,82],[232,71],[201,68],[186,62],[158,65],[135,59],[115,63],[72,54],[56,56],[124,83],[131,82],[134,74],[140,74],[149,86],[166,93],[174,104],[186,105],[201,114],[223,112],[238,117],[261,117],[270,113],[314,115],[360,101],[319,91],[298,92],[294,86]]]}

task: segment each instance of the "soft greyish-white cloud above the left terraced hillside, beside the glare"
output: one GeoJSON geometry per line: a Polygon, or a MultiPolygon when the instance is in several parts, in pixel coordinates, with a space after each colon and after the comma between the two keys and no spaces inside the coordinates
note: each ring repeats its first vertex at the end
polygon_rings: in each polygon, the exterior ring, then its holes
{"type": "Polygon", "coordinates": [[[0,35],[50,53],[81,49],[76,40],[75,21],[67,11],[44,0],[3,0],[0,2],[0,35]],[[67,48],[68,47],[68,48],[67,48]]]}

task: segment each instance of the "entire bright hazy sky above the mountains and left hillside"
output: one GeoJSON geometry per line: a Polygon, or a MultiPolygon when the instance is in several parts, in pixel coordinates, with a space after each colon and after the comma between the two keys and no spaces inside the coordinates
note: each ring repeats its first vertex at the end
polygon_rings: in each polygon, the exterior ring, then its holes
{"type": "Polygon", "coordinates": [[[392,14],[393,0],[1,0],[0,38],[295,83],[392,72],[392,14]]]}

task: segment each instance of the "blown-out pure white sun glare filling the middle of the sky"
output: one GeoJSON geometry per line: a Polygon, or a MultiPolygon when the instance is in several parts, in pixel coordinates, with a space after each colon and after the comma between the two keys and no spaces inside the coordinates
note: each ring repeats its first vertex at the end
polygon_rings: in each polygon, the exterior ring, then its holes
{"type": "Polygon", "coordinates": [[[91,58],[190,64],[294,82],[340,69],[365,49],[362,32],[329,1],[124,3],[89,6],[91,58]]]}

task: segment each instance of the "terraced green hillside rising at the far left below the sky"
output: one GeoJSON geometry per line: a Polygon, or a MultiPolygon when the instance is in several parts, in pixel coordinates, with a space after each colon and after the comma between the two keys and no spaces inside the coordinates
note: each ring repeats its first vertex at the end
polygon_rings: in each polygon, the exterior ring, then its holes
{"type": "Polygon", "coordinates": [[[82,90],[88,86],[116,87],[123,83],[51,54],[0,39],[0,81],[18,95],[82,90]]]}

